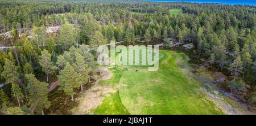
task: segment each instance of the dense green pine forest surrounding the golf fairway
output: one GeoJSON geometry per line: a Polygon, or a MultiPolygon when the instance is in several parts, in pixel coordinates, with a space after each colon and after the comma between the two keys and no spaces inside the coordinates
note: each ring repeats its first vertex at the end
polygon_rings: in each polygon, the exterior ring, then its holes
{"type": "MultiPolygon", "coordinates": [[[[230,92],[256,86],[255,6],[2,0],[0,113],[44,114],[56,83],[72,102],[101,75],[98,53],[89,46],[110,41],[134,45],[138,38],[163,43],[163,49],[171,49],[171,41],[192,43],[192,55],[229,76],[230,92]]],[[[249,99],[255,105],[256,95],[249,99]]]]}

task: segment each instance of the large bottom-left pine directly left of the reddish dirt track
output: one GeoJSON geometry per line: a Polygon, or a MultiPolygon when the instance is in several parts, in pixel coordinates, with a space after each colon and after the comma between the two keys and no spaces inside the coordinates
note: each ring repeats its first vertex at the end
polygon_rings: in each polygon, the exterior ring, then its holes
{"type": "Polygon", "coordinates": [[[27,90],[28,90],[28,104],[36,106],[36,112],[42,112],[44,108],[47,109],[50,106],[48,101],[47,92],[48,84],[46,82],[40,82],[36,79],[35,75],[27,74],[26,79],[28,81],[27,90]]]}

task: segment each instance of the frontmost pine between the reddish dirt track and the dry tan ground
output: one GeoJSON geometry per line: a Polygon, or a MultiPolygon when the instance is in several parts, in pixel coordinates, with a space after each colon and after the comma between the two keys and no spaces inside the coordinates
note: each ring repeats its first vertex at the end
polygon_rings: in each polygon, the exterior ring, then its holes
{"type": "Polygon", "coordinates": [[[75,72],[75,69],[67,62],[57,77],[60,79],[59,89],[64,90],[65,94],[71,95],[73,101],[73,95],[76,94],[73,89],[82,84],[81,74],[75,72]]]}

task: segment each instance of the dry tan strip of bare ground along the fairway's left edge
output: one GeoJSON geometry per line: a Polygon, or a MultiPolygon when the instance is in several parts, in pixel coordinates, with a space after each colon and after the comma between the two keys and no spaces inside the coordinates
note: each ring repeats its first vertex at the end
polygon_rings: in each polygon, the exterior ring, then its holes
{"type": "Polygon", "coordinates": [[[102,76],[97,79],[89,90],[81,95],[79,99],[79,107],[73,114],[92,114],[91,111],[101,105],[104,97],[110,93],[115,93],[116,90],[109,86],[102,86],[98,84],[100,80],[108,80],[113,76],[107,68],[102,69],[102,76]]]}

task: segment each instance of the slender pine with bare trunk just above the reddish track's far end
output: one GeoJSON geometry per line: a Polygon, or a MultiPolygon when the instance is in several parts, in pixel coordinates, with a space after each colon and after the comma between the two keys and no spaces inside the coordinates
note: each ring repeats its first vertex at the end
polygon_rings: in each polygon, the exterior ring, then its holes
{"type": "Polygon", "coordinates": [[[39,57],[39,64],[42,66],[43,71],[46,72],[46,80],[49,81],[49,74],[53,73],[57,68],[53,65],[51,61],[51,54],[48,53],[46,49],[42,52],[42,55],[39,57]]]}

